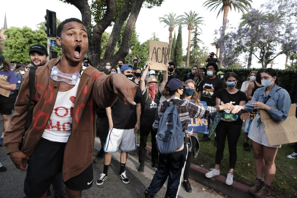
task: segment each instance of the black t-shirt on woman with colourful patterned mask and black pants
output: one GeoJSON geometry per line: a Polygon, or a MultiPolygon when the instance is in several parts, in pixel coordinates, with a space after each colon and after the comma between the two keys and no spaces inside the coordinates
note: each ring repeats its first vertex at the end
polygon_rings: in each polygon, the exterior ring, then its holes
{"type": "MultiPolygon", "coordinates": [[[[229,93],[226,89],[220,89],[218,90],[215,94],[215,97],[220,98],[221,101],[224,102],[224,104],[226,103],[232,103],[232,105],[239,105],[240,101],[248,101],[247,96],[245,95],[244,92],[239,91],[236,93],[229,93]]],[[[238,117],[238,119],[236,121],[234,121],[233,123],[239,123],[242,120],[240,119],[240,116],[238,117]]]]}

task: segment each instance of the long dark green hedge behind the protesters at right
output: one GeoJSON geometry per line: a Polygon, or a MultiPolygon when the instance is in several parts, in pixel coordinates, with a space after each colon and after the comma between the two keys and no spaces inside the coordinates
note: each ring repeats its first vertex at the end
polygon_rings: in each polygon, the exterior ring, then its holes
{"type": "MultiPolygon", "coordinates": [[[[183,67],[183,68],[175,68],[175,73],[179,75],[179,78],[183,80],[183,77],[187,75],[188,72],[191,72],[192,67],[183,67]]],[[[257,71],[259,68],[236,68],[236,67],[225,67],[222,69],[219,69],[219,71],[224,72],[225,74],[227,72],[234,72],[237,74],[238,77],[238,83],[236,87],[238,89],[241,88],[241,84],[247,80],[248,75],[251,71],[257,71]]],[[[276,69],[278,72],[278,81],[279,85],[286,89],[289,93],[292,88],[292,84],[294,80],[297,78],[297,70],[296,69],[286,69],[286,70],[280,70],[276,69]]]]}

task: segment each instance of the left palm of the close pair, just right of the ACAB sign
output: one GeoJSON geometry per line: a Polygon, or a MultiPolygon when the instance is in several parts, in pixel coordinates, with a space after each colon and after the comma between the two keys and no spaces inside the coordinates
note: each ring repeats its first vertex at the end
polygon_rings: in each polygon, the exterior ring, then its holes
{"type": "Polygon", "coordinates": [[[159,21],[165,23],[166,25],[164,28],[168,25],[168,31],[169,31],[169,43],[168,43],[168,61],[170,61],[171,58],[171,47],[172,47],[172,32],[174,30],[174,27],[179,25],[182,20],[182,15],[179,15],[175,17],[176,14],[173,14],[173,12],[169,13],[169,15],[164,15],[163,17],[159,17],[159,21]]]}

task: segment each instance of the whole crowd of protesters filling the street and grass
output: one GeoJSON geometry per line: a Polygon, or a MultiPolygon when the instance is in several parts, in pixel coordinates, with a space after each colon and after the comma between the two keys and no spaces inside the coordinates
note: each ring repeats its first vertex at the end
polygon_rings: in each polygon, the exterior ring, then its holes
{"type": "MultiPolygon", "coordinates": [[[[154,197],[167,178],[165,197],[176,197],[181,184],[187,192],[192,192],[188,180],[191,157],[197,157],[199,141],[209,141],[210,134],[205,132],[198,140],[197,132],[201,131],[188,130],[188,124],[195,118],[205,118],[210,127],[210,120],[214,123],[219,115],[214,137],[217,147],[214,168],[205,176],[220,174],[227,138],[226,184],[233,184],[237,142],[245,122],[243,147],[250,150],[248,139],[252,140],[256,169],[256,183],[249,192],[261,198],[270,195],[276,170],[274,159],[281,145],[269,146],[260,111],[253,120],[241,120],[239,115],[262,109],[274,120],[287,118],[297,92],[292,89],[289,95],[279,87],[276,71],[271,68],[251,71],[241,90],[236,88],[235,73],[218,71],[220,60],[214,58],[217,55],[213,52],[205,59],[205,68],[192,66],[182,81],[174,72],[174,62],[167,62],[167,70],[163,75],[158,73],[157,78],[150,68],[150,59],[142,70],[137,55],[132,57],[132,65],[119,59],[118,65],[106,62],[105,68],[98,71],[92,67],[91,60],[84,58],[88,49],[86,28],[75,18],[59,24],[57,43],[62,46],[62,57],[50,61],[44,46],[32,45],[28,54],[34,66],[31,69],[16,65],[13,72],[10,62],[0,54],[0,79],[6,81],[0,82],[0,88],[8,90],[6,96],[0,95],[4,121],[0,145],[6,146],[16,168],[27,170],[26,197],[45,197],[51,184],[54,197],[81,197],[82,190],[93,185],[92,153],[96,136],[100,138],[101,150],[94,155],[104,158],[96,185],[103,185],[108,178],[112,153],[119,147],[118,177],[123,183],[130,183],[125,166],[128,153],[137,148],[137,132],[140,132],[138,171],[144,172],[147,165],[145,147],[149,133],[151,166],[157,169],[149,187],[144,189],[145,197],[154,197]],[[207,105],[201,105],[200,101],[207,105]],[[185,141],[174,153],[161,154],[156,135],[160,119],[171,105],[177,106],[185,141]],[[15,113],[11,118],[13,106],[15,113]],[[278,108],[271,108],[274,106],[278,108]]],[[[295,159],[297,147],[287,157],[295,159]]],[[[5,170],[0,162],[0,171],[5,170]]]]}

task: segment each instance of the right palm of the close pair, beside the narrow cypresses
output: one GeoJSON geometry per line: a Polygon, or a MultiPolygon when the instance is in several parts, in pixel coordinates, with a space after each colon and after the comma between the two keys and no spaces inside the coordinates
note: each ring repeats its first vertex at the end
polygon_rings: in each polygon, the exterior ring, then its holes
{"type": "MultiPolygon", "coordinates": [[[[189,36],[188,36],[188,47],[187,47],[187,61],[186,61],[186,67],[189,67],[189,62],[190,62],[190,49],[191,49],[191,34],[192,30],[194,29],[194,26],[198,25],[204,25],[202,20],[203,17],[199,17],[198,13],[195,13],[195,11],[190,11],[189,14],[184,12],[183,15],[183,24],[188,26],[188,31],[189,31],[189,36]]],[[[198,27],[200,30],[201,28],[198,27]]],[[[201,30],[202,31],[202,30],[201,30]]]]}

